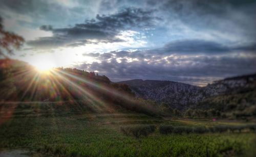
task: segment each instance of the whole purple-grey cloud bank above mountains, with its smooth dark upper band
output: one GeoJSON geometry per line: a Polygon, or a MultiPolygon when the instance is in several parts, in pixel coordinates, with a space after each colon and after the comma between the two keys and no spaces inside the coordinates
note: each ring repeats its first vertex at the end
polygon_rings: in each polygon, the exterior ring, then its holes
{"type": "Polygon", "coordinates": [[[254,53],[244,51],[251,50],[249,46],[239,49],[239,47],[227,47],[210,41],[196,40],[197,44],[192,43],[194,42],[177,41],[159,49],[84,54],[84,56],[94,57],[98,62],[83,63],[76,67],[89,71],[97,70],[116,82],[147,79],[178,81],[193,85],[206,85],[224,77],[256,72],[255,51],[254,53]],[[170,45],[172,48],[168,47],[170,45]],[[183,53],[177,53],[176,50],[182,46],[187,47],[181,49],[183,53]],[[169,49],[175,53],[170,51],[163,53],[163,49],[169,49]],[[217,50],[221,52],[218,53],[217,50]],[[193,51],[195,53],[190,53],[193,51]],[[225,53],[226,51],[228,53],[225,53]]]}

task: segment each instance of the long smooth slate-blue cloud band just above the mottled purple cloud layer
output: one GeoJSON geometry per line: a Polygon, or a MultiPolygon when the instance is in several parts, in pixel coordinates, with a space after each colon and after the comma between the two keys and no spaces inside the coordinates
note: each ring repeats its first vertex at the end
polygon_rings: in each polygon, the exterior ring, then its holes
{"type": "MultiPolygon", "coordinates": [[[[115,58],[139,58],[139,59],[159,59],[168,55],[227,55],[236,53],[255,54],[256,43],[224,45],[215,41],[206,41],[198,39],[177,40],[166,43],[164,46],[153,49],[137,49],[133,51],[119,50],[110,51],[98,55],[100,59],[102,56],[110,56],[115,58]]],[[[87,54],[84,54],[87,55],[87,54]]],[[[94,56],[96,57],[96,56],[94,56]]],[[[105,59],[105,58],[104,58],[105,59]]]]}

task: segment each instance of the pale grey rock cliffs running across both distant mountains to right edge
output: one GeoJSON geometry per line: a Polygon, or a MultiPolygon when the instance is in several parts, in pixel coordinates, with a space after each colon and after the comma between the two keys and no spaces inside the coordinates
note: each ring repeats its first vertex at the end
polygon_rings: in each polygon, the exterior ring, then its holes
{"type": "Polygon", "coordinates": [[[165,102],[182,110],[211,96],[254,88],[255,81],[256,74],[227,78],[206,87],[156,80],[129,80],[119,83],[129,85],[136,97],[165,102]]]}

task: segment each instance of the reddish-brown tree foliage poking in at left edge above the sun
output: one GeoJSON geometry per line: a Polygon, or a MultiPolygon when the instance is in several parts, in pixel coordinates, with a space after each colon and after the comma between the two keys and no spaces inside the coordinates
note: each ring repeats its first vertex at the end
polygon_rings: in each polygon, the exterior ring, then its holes
{"type": "Polygon", "coordinates": [[[0,57],[3,56],[8,58],[3,50],[5,50],[9,55],[13,55],[13,48],[20,48],[25,40],[19,35],[5,31],[2,21],[3,20],[0,17],[0,57]]]}

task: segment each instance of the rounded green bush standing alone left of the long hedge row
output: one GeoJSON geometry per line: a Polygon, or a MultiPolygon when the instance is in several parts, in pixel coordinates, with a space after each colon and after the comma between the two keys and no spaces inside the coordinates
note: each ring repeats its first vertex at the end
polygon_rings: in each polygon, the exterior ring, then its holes
{"type": "Polygon", "coordinates": [[[140,125],[140,126],[126,126],[120,127],[120,131],[126,136],[132,135],[136,139],[144,136],[147,137],[149,134],[155,131],[155,125],[140,125]]]}

